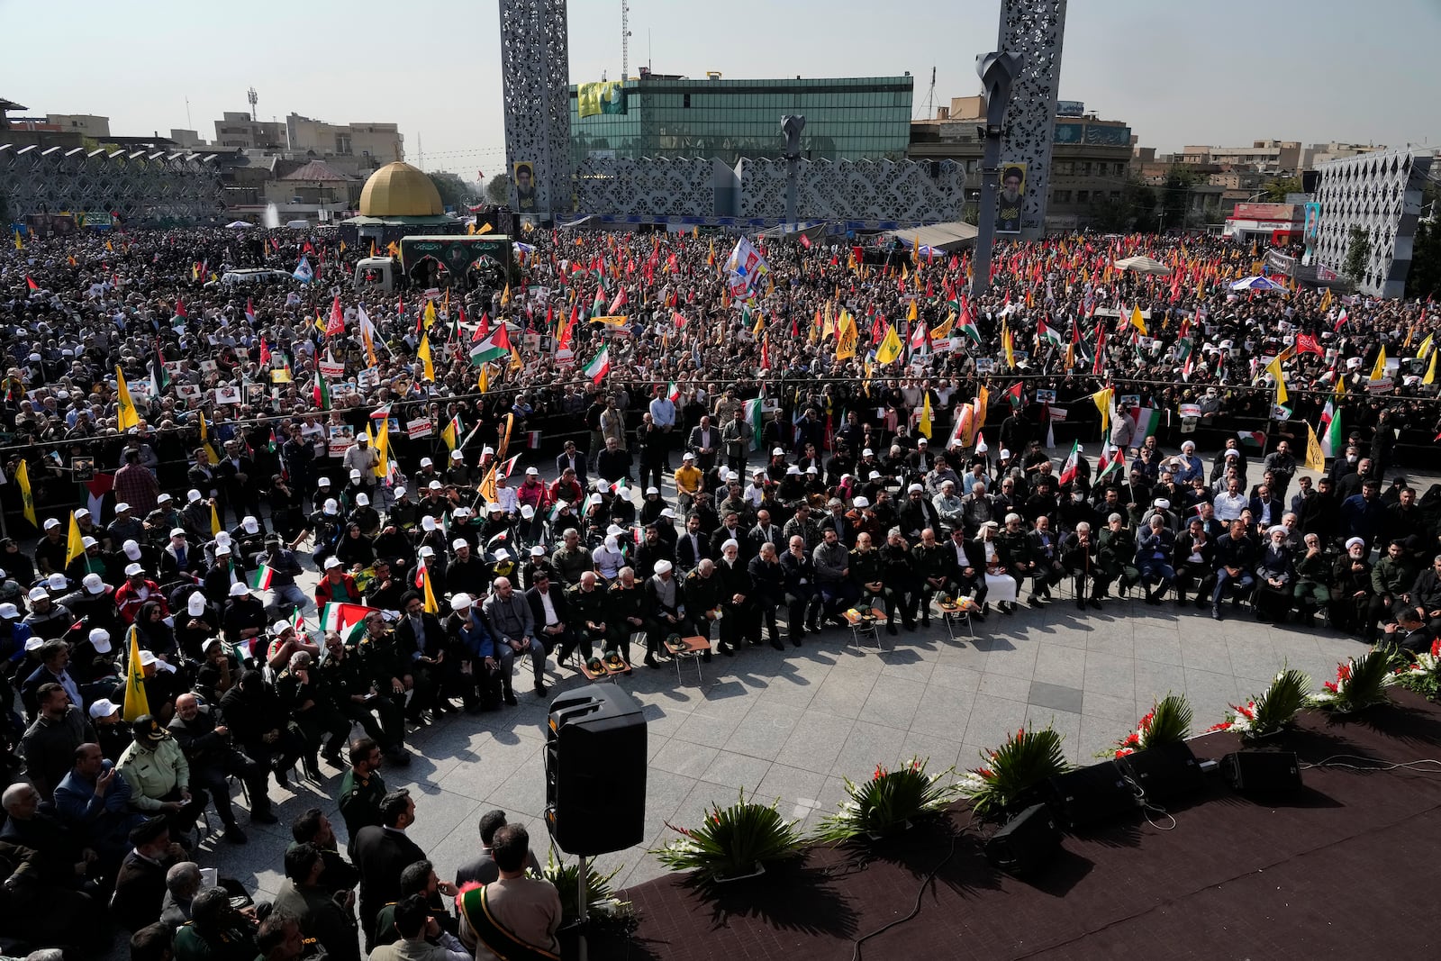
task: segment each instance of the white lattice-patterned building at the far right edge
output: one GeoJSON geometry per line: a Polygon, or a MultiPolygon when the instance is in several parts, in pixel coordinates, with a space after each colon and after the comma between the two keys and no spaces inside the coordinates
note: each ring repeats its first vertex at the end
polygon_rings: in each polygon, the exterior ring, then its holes
{"type": "Polygon", "coordinates": [[[1402,297],[1421,218],[1421,193],[1435,154],[1435,147],[1405,146],[1320,164],[1319,267],[1344,274],[1352,231],[1357,229],[1370,243],[1362,274],[1353,278],[1357,290],[1402,297]]]}

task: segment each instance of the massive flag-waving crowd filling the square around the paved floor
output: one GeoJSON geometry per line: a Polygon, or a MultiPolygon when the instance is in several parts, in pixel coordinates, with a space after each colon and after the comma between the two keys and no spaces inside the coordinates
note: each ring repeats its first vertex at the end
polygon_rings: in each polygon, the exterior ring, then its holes
{"type": "Polygon", "coordinates": [[[320,235],[0,261],[0,935],[94,951],[73,918],[108,903],[137,958],[484,958],[506,924],[555,949],[523,828],[487,815],[494,869],[438,882],[379,774],[416,725],[517,705],[517,658],[545,694],[677,638],[744,657],[955,602],[984,630],[1062,586],[1441,631],[1441,504],[1396,474],[1437,429],[1422,304],[1238,294],[1257,252],[1199,236],[1014,243],[976,298],[964,254],[893,243],[771,241],[741,274],[725,238],[520,239],[500,290],[435,298],[354,292],[365,251],[320,235]],[[1138,254],[1172,272],[1114,267],[1138,254]],[[225,280],[303,258],[308,284],[225,280]],[[236,911],[196,826],[245,843],[236,807],[274,821],[272,779],[321,762],[352,860],[307,811],[284,892],[236,911]]]}

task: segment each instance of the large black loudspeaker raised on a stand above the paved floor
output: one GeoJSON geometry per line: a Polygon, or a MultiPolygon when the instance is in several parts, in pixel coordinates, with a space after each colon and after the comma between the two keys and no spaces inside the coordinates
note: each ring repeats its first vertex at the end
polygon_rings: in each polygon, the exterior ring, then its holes
{"type": "Polygon", "coordinates": [[[614,684],[550,703],[545,820],[568,854],[608,854],[646,840],[646,718],[614,684]]]}

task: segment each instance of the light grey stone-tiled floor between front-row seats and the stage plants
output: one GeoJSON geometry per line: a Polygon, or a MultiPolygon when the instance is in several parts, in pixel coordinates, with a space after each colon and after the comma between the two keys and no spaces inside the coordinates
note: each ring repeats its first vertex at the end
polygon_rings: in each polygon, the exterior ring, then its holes
{"type": "MultiPolygon", "coordinates": [[[[857,651],[847,645],[849,631],[830,630],[784,653],[761,645],[716,657],[699,684],[689,666],[680,684],[669,664],[637,669],[620,683],[648,722],[646,843],[599,859],[601,866],[620,869],[620,886],[656,877],[663,869],[646,849],[672,836],[666,823],[695,824],[710,803],[725,804],[741,788],[778,800],[784,815],[811,826],[842,800],[843,777],[865,777],[878,762],[916,755],[932,766],[973,766],[977,752],[1006,732],[1050,723],[1068,756],[1085,764],[1124,736],[1153,697],[1185,692],[1203,728],[1221,720],[1228,703],[1259,692],[1282,664],[1324,677],[1362,650],[1324,628],[1259,624],[1248,611],[1228,609],[1218,624],[1190,607],[1133,601],[1082,614],[1058,599],[1013,617],[991,614],[977,628],[977,638],[953,641],[932,621],[915,634],[882,635],[892,647],[886,653],[857,651]]],[[[585,683],[569,669],[550,677],[559,683],[549,697],[585,683]]],[[[442,877],[474,850],[476,823],[491,807],[526,823],[537,849],[546,843],[549,697],[519,696],[519,707],[415,732],[414,764],[385,771],[392,787],[416,794],[411,834],[442,877]]],[[[288,820],[311,805],[334,811],[339,774],[321,769],[320,785],[274,791],[284,798],[281,824],[255,826],[248,846],[218,844],[200,860],[255,885],[261,896],[272,893],[288,820]]]]}

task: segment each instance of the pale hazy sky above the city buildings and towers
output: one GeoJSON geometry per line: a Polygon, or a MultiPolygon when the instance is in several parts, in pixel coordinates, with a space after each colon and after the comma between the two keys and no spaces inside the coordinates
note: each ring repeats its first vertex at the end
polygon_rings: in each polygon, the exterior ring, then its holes
{"type": "MultiPolygon", "coordinates": [[[[1069,7],[1061,98],[1127,121],[1143,146],[1441,140],[1441,0],[1069,7]]],[[[572,82],[620,76],[620,9],[569,4],[572,82]]],[[[994,48],[997,20],[997,0],[633,0],[630,68],[911,71],[921,112],[932,66],[937,104],[977,92],[974,59],[994,48]]],[[[209,140],[254,86],[261,120],[393,121],[412,163],[424,148],[429,170],[488,177],[504,163],[499,22],[493,0],[0,0],[0,97],[30,114],[107,115],[115,134],[180,127],[209,140]]]]}

